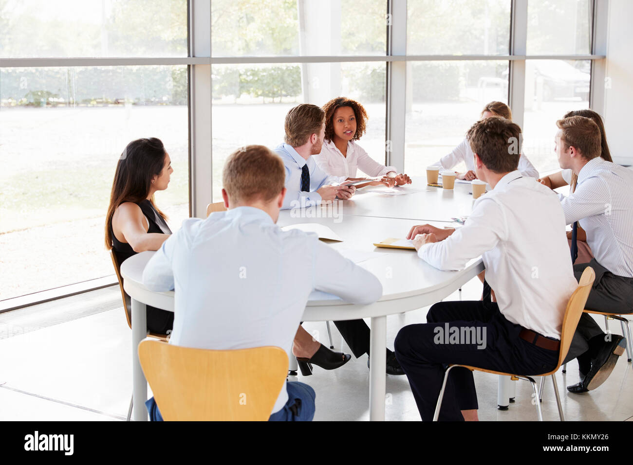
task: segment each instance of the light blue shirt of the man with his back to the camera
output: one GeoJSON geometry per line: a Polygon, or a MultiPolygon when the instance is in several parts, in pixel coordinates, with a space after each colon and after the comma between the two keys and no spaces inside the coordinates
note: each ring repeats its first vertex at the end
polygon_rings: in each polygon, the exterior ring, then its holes
{"type": "MultiPolygon", "coordinates": [[[[282,231],[253,207],[183,221],[147,263],[143,283],[153,291],[175,290],[170,344],[218,350],[273,345],[289,357],[313,289],[355,304],[382,295],[372,273],[312,233],[282,231]]],[[[287,399],[284,387],[272,412],[287,399]]]]}

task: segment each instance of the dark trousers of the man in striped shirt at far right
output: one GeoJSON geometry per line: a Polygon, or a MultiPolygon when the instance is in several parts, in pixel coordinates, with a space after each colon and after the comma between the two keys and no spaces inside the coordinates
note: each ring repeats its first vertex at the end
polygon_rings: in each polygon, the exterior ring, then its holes
{"type": "MultiPolygon", "coordinates": [[[[591,266],[595,271],[596,280],[585,308],[599,312],[633,313],[633,278],[614,275],[596,259],[592,259],[589,263],[573,266],[573,275],[577,280],[580,280],[587,266],[591,266]]],[[[577,358],[580,371],[586,375],[591,368],[591,358],[603,344],[604,336],[605,333],[598,323],[589,314],[583,313],[573,334],[572,345],[565,362],[577,358]]]]}

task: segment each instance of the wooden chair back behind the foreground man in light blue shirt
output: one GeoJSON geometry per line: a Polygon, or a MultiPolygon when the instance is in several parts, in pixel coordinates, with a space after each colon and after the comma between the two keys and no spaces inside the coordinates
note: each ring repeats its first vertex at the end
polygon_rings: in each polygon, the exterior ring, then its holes
{"type": "Polygon", "coordinates": [[[267,421],[288,370],[279,347],[208,350],[144,340],[139,359],[165,421],[267,421]]]}

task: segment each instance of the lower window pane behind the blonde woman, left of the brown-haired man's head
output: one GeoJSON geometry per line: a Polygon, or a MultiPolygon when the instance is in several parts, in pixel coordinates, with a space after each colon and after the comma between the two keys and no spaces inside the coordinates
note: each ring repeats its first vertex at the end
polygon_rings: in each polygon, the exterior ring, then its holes
{"type": "Polygon", "coordinates": [[[508,103],[508,61],[410,62],[406,77],[408,175],[425,175],[429,164],[451,152],[488,102],[508,103]]]}

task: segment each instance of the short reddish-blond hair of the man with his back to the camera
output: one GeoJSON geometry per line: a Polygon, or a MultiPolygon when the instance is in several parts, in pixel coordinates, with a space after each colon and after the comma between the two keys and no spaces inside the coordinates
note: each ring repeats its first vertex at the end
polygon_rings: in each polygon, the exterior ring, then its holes
{"type": "Polygon", "coordinates": [[[270,202],[284,189],[284,162],[264,146],[246,146],[229,155],[222,184],[232,202],[270,202]]]}

